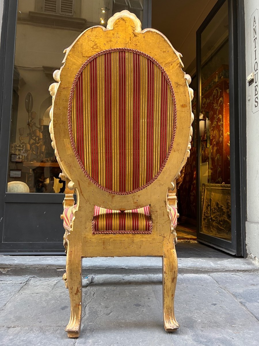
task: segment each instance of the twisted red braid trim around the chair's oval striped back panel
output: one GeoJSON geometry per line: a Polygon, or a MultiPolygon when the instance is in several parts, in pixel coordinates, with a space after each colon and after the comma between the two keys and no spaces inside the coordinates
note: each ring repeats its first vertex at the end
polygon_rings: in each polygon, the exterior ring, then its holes
{"type": "Polygon", "coordinates": [[[96,186],[98,186],[98,188],[100,188],[101,190],[104,190],[106,192],[109,193],[114,193],[114,194],[118,194],[118,195],[126,195],[126,194],[131,194],[140,190],[145,189],[148,185],[152,184],[157,177],[160,175],[160,173],[162,172],[162,170],[165,167],[165,164],[169,158],[169,155],[172,151],[172,147],[173,147],[173,142],[174,142],[174,137],[175,137],[175,131],[176,131],[176,119],[177,119],[177,114],[176,114],[176,100],[175,100],[175,95],[174,95],[174,90],[173,90],[173,86],[171,83],[171,80],[169,79],[167,73],[165,72],[164,68],[159,64],[159,62],[157,62],[152,56],[143,53],[141,51],[138,51],[137,49],[132,49],[132,48],[110,48],[110,49],[105,49],[104,51],[98,52],[97,54],[92,55],[90,58],[88,58],[86,60],[86,62],[80,67],[79,71],[77,72],[74,82],[72,84],[71,90],[70,90],[70,94],[69,94],[69,102],[68,102],[68,129],[69,129],[69,137],[70,137],[70,142],[71,142],[71,146],[73,148],[74,154],[76,156],[77,162],[79,163],[79,166],[81,168],[81,170],[84,172],[84,174],[88,177],[88,179],[95,184],[96,186]],[[80,160],[79,154],[77,152],[76,146],[75,146],[75,140],[74,140],[74,136],[73,136],[73,130],[72,130],[72,120],[71,120],[71,110],[72,110],[72,101],[73,101],[73,96],[74,96],[74,91],[76,88],[76,83],[79,79],[80,74],[82,73],[82,71],[84,70],[85,66],[87,64],[89,64],[92,60],[94,60],[95,58],[97,58],[100,55],[103,54],[107,54],[107,53],[112,53],[112,52],[131,52],[131,53],[136,53],[139,55],[142,55],[144,57],[146,57],[147,59],[151,60],[158,68],[159,70],[163,73],[168,85],[169,85],[169,89],[171,91],[172,94],[172,100],[173,100],[173,133],[172,133],[172,138],[171,138],[171,143],[170,143],[170,147],[169,150],[166,154],[165,160],[163,162],[163,164],[161,165],[159,171],[156,173],[156,175],[150,180],[148,181],[146,184],[132,190],[132,191],[113,191],[110,189],[105,188],[104,186],[98,184],[86,171],[83,163],[80,160]]]}

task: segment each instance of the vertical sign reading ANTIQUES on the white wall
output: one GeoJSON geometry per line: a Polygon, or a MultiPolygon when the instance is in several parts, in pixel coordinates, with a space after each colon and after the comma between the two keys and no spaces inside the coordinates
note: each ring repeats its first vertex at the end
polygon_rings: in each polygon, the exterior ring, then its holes
{"type": "Polygon", "coordinates": [[[259,111],[259,21],[258,9],[253,12],[250,19],[250,32],[251,32],[251,57],[252,57],[252,71],[254,72],[254,83],[252,84],[252,112],[259,111]]]}

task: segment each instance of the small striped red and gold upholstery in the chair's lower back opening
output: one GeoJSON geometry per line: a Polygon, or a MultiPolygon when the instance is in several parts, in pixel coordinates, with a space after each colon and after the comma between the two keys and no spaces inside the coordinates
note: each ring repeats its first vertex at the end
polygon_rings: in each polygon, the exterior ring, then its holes
{"type": "Polygon", "coordinates": [[[152,218],[150,206],[133,210],[111,210],[95,206],[92,221],[93,234],[150,234],[152,218]]]}

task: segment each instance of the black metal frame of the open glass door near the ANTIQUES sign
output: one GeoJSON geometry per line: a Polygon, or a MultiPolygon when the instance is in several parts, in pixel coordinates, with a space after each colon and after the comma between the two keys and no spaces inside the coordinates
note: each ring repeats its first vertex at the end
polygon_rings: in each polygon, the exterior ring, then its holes
{"type": "Polygon", "coordinates": [[[197,235],[200,242],[223,249],[237,256],[246,256],[245,222],[246,204],[246,67],[243,0],[219,0],[196,33],[197,111],[195,119],[196,141],[196,195],[197,235]],[[200,136],[199,109],[201,109],[201,33],[222,4],[228,1],[229,13],[229,103],[230,103],[230,181],[231,181],[231,233],[232,242],[200,232],[200,136]],[[244,83],[242,83],[242,81],[244,83]]]}

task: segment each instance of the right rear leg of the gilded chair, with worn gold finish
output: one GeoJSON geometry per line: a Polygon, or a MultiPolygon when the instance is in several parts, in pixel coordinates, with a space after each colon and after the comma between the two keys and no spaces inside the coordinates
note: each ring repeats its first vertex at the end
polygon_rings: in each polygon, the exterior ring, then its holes
{"type": "Polygon", "coordinates": [[[171,242],[165,238],[163,242],[163,315],[164,328],[172,331],[180,327],[174,316],[174,294],[178,274],[177,256],[174,239],[171,242]]]}

